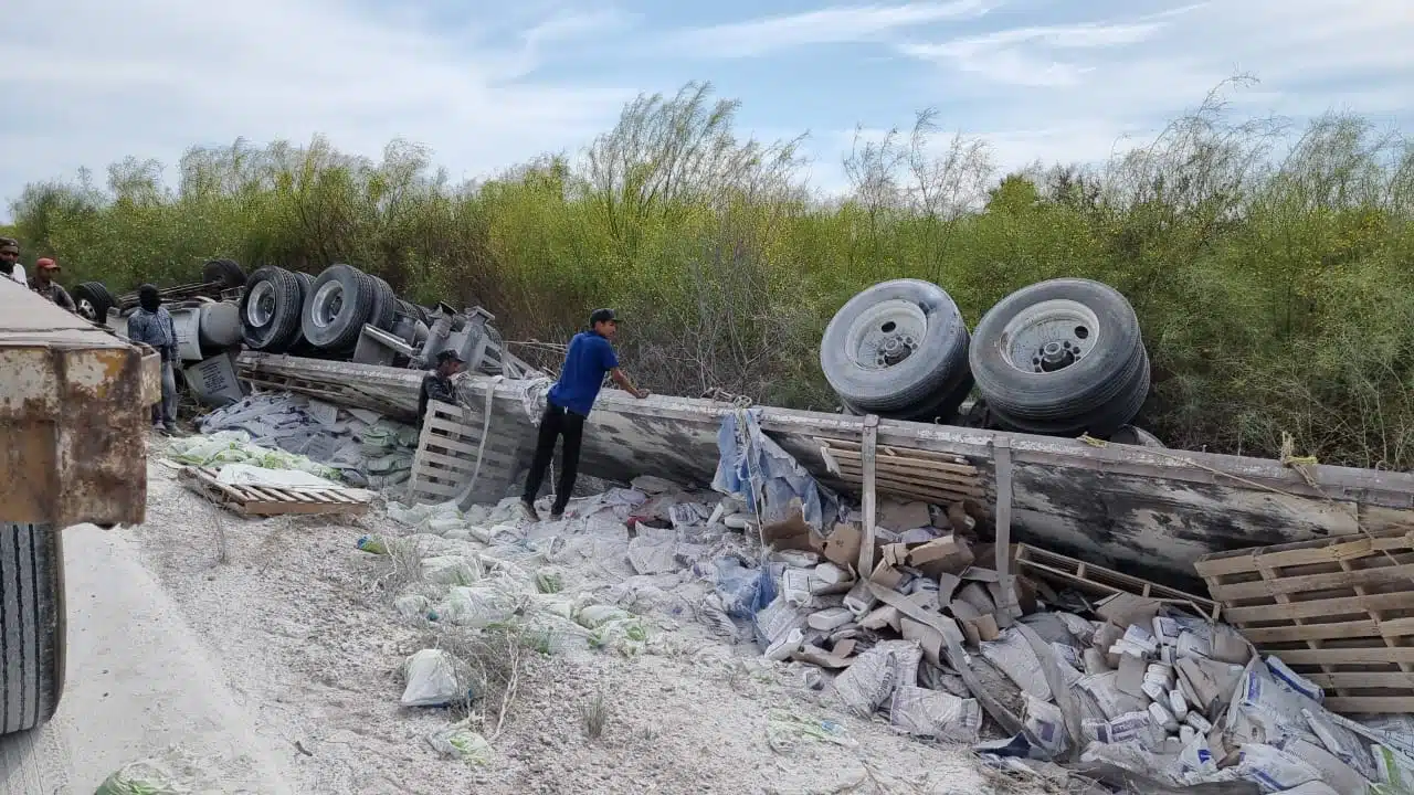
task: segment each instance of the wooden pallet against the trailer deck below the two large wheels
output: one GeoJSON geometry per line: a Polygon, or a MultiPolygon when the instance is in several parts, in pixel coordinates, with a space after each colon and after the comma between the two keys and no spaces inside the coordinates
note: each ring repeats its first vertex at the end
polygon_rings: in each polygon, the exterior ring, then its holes
{"type": "MultiPolygon", "coordinates": [[[[864,451],[858,441],[822,439],[820,455],[826,468],[840,482],[861,487],[864,482],[864,451]]],[[[987,491],[977,467],[957,455],[878,446],[874,453],[874,485],[880,494],[908,499],[950,504],[963,499],[986,499],[987,491]]]]}

